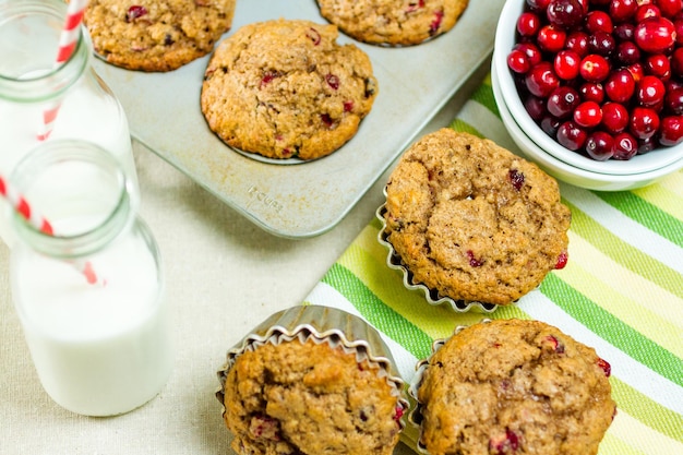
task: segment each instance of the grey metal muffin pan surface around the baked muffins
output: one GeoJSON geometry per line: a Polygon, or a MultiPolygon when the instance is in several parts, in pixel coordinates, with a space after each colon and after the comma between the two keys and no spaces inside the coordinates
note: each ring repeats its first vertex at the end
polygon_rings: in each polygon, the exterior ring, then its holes
{"type": "MultiPolygon", "coordinates": [[[[132,136],[219,200],[276,236],[332,229],[489,57],[504,0],[470,0],[446,34],[411,47],[381,47],[339,34],[370,57],[380,93],[356,136],[297,165],[245,156],[207,127],[200,108],[209,56],[176,71],[145,73],[95,59],[121,101],[132,136]]],[[[326,23],[313,0],[238,0],[232,28],[272,19],[326,23]]]]}

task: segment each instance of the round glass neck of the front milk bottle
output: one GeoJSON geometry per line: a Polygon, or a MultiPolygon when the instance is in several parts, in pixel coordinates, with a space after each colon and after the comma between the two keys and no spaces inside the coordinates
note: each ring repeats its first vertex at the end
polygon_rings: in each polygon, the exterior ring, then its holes
{"type": "Polygon", "coordinates": [[[120,163],[88,142],[58,140],[38,146],[19,163],[10,182],[53,230],[47,234],[15,213],[19,239],[49,256],[93,255],[135,219],[137,200],[120,163]]]}

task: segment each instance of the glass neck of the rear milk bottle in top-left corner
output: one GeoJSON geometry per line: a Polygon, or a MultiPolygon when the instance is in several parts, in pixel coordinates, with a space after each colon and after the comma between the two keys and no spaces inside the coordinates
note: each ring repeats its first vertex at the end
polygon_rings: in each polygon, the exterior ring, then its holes
{"type": "Polygon", "coordinates": [[[92,44],[79,28],[71,58],[57,65],[67,3],[0,2],[0,99],[40,103],[61,97],[91,67],[92,44]]]}

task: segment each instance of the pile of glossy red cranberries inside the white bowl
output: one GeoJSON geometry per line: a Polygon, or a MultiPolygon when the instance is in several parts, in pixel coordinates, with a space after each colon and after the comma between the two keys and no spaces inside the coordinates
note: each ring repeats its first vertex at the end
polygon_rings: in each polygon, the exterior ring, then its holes
{"type": "Polygon", "coordinates": [[[548,135],[596,160],[683,141],[683,0],[525,1],[507,67],[548,135]]]}

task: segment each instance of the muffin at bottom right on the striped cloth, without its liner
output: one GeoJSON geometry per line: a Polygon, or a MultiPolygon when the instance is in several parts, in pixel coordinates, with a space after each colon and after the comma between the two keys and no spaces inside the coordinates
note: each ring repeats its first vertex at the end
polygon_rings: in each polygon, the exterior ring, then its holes
{"type": "Polygon", "coordinates": [[[539,321],[464,328],[423,372],[420,443],[430,455],[595,455],[615,412],[607,364],[539,321]]]}

